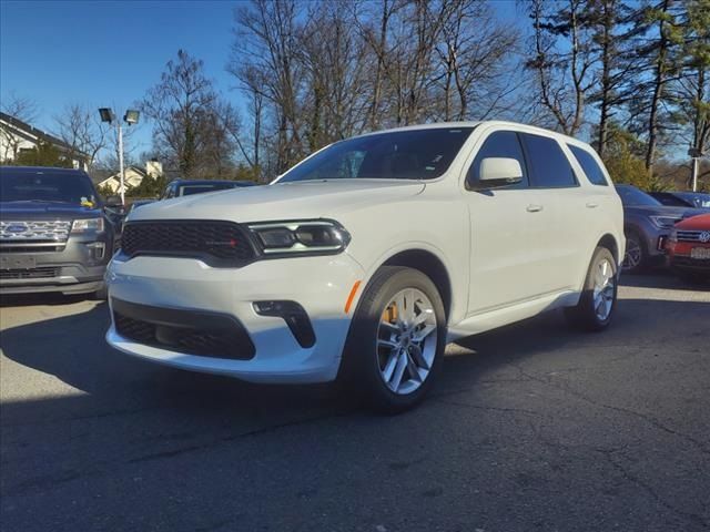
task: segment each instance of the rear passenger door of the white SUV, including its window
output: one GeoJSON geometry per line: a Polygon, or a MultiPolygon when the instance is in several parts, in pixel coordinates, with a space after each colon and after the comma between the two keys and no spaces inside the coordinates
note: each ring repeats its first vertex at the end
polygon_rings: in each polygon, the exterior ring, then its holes
{"type": "Polygon", "coordinates": [[[585,193],[561,144],[551,136],[520,133],[528,168],[530,187],[540,208],[538,223],[542,224],[530,253],[537,257],[541,293],[578,289],[580,268],[591,257],[587,242],[589,227],[585,223],[585,193]]]}

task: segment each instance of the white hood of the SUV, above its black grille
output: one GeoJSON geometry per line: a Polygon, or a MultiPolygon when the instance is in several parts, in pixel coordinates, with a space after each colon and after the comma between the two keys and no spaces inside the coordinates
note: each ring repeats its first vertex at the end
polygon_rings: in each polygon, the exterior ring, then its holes
{"type": "Polygon", "coordinates": [[[328,218],[376,203],[419,194],[416,181],[342,180],[275,183],[156,202],[131,213],[140,219],[229,219],[262,222],[328,218]]]}

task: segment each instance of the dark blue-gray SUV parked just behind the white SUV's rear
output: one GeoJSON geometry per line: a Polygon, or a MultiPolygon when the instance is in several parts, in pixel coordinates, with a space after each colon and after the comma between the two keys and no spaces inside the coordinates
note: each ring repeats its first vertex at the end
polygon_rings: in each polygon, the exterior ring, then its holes
{"type": "Polygon", "coordinates": [[[621,269],[638,273],[661,265],[666,259],[666,239],[677,222],[704,214],[706,208],[669,207],[636,186],[617,185],[623,205],[626,255],[621,269]]]}

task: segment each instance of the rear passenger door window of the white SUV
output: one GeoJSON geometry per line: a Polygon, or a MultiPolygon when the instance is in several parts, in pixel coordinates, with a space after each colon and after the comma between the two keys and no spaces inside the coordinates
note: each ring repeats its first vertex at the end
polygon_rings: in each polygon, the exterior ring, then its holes
{"type": "Polygon", "coordinates": [[[520,133],[525,154],[530,163],[530,183],[536,188],[577,186],[575,172],[556,140],[520,133]]]}

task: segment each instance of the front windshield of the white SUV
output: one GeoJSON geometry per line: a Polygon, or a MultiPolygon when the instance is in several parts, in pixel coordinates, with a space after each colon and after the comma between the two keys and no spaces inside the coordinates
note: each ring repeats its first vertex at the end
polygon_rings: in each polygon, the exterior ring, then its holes
{"type": "Polygon", "coordinates": [[[313,180],[433,180],[452,164],[473,127],[378,133],[335,143],[280,183],[313,180]]]}

